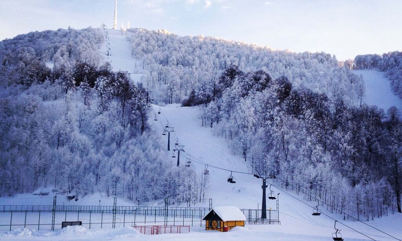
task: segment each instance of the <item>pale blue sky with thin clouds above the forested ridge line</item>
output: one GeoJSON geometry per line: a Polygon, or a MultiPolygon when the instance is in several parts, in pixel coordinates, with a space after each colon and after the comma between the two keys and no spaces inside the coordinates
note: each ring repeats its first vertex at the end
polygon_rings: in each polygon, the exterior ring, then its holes
{"type": "MultiPolygon", "coordinates": [[[[0,40],[32,31],[113,25],[114,0],[8,0],[0,40]]],[[[402,51],[400,0],[118,0],[118,28],[166,29],[338,60],[402,51]]]]}

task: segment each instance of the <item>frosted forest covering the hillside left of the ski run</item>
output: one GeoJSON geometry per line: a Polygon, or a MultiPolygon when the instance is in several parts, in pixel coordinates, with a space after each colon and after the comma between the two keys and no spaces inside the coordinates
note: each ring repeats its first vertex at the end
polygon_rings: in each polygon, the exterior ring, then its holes
{"type": "Polygon", "coordinates": [[[104,43],[103,31],[91,28],[0,43],[0,196],[41,186],[141,202],[180,203],[193,194],[178,184],[195,186],[195,175],[164,162],[145,89],[111,71],[100,55],[104,43]]]}

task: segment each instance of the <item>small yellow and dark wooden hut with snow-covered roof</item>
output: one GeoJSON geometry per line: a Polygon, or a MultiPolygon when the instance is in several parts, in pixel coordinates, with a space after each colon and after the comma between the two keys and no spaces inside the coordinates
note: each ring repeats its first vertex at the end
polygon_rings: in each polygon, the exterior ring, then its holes
{"type": "Polygon", "coordinates": [[[234,206],[214,207],[204,218],[205,230],[226,232],[236,226],[244,227],[246,216],[234,206]]]}

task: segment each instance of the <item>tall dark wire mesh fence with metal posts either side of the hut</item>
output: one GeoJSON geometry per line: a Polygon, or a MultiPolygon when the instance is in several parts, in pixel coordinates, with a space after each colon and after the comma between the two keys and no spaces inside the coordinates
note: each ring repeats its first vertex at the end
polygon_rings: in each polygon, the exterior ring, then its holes
{"type": "MultiPolygon", "coordinates": [[[[86,228],[113,228],[135,225],[200,225],[210,211],[203,207],[148,207],[148,206],[0,206],[0,230],[18,228],[60,229],[65,221],[81,221],[86,228]],[[24,210],[25,209],[25,210],[24,210]],[[167,216],[165,216],[167,213],[167,216]]],[[[258,218],[258,209],[240,209],[247,223],[280,223],[278,210],[267,210],[267,219],[258,218]]]]}

